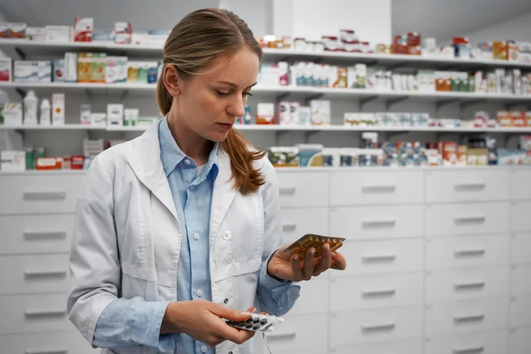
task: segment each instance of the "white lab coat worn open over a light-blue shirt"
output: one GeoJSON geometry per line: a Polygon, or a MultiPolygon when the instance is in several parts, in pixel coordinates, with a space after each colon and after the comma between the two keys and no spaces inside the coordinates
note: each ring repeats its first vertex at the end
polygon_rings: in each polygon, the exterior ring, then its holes
{"type": "MultiPolygon", "coordinates": [[[[218,161],[209,234],[212,301],[238,310],[259,308],[259,270],[282,243],[276,172],[267,158],[257,161],[266,183],[243,196],[233,188],[230,158],[222,149],[218,161]]],[[[77,201],[68,313],[91,345],[97,319],[118,297],[176,300],[180,245],[177,212],[160,162],[158,124],[153,124],[93,160],[77,201]]],[[[216,346],[216,353],[230,352],[268,353],[266,339],[258,333],[241,346],[229,341],[216,346]]]]}

